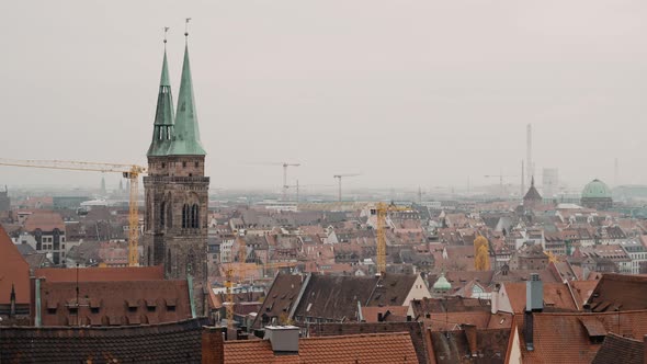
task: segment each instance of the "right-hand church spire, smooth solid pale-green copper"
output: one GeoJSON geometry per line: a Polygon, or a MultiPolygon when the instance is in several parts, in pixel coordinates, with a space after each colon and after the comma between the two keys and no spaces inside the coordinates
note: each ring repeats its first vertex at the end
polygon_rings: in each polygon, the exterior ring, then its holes
{"type": "MultiPolygon", "coordinates": [[[[185,35],[188,35],[185,33],[185,35]]],[[[205,156],[206,152],[200,141],[197,113],[193,99],[193,81],[189,62],[189,45],[184,48],[184,64],[182,65],[182,81],[178,95],[178,112],[173,140],[168,151],[169,156],[205,156]]]]}

